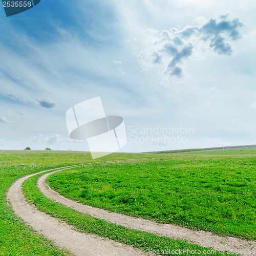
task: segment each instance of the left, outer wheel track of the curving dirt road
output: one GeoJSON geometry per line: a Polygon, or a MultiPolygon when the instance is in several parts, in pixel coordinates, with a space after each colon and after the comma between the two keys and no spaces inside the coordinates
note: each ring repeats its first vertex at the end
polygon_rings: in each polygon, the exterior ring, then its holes
{"type": "MultiPolygon", "coordinates": [[[[60,168],[59,170],[67,168],[60,168]]],[[[44,172],[47,172],[47,170],[44,172]]],[[[69,249],[77,256],[146,255],[132,246],[75,231],[71,225],[60,222],[28,204],[22,194],[22,184],[36,174],[28,175],[14,182],[8,190],[7,199],[11,203],[15,214],[39,233],[54,241],[56,245],[69,249]]]]}

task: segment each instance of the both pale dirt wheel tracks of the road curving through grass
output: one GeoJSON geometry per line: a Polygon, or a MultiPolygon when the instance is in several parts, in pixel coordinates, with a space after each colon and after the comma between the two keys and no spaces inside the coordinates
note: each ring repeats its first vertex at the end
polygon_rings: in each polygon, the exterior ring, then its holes
{"type": "MultiPolygon", "coordinates": [[[[232,237],[219,237],[210,232],[195,231],[178,225],[159,224],[154,221],[148,221],[141,218],[109,212],[88,205],[82,205],[59,195],[46,184],[45,180],[49,175],[59,172],[60,170],[73,167],[75,166],[52,169],[53,172],[47,173],[39,178],[37,184],[39,189],[43,194],[45,194],[45,196],[56,202],[74,208],[77,211],[90,214],[91,216],[125,227],[151,232],[158,234],[159,236],[166,236],[173,239],[186,239],[190,243],[202,245],[204,247],[211,247],[215,250],[223,251],[243,249],[243,252],[240,253],[241,255],[252,255],[252,250],[256,249],[256,242],[254,241],[245,241],[232,237]]],[[[45,170],[39,173],[48,171],[49,170],[45,170]]],[[[7,198],[11,203],[15,214],[39,233],[44,234],[60,247],[65,247],[76,255],[146,255],[132,246],[121,244],[110,239],[100,238],[92,234],[75,231],[72,229],[71,225],[60,222],[28,204],[22,194],[22,184],[26,179],[36,174],[18,179],[9,188],[7,198]]]]}

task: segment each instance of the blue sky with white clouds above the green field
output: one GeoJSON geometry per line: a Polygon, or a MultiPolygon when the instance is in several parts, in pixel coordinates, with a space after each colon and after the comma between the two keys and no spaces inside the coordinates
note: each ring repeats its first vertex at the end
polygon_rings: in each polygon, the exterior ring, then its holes
{"type": "Polygon", "coordinates": [[[255,9],[41,0],[6,17],[1,7],[0,149],[88,151],[65,114],[97,96],[124,119],[121,152],[256,144],[255,9]]]}

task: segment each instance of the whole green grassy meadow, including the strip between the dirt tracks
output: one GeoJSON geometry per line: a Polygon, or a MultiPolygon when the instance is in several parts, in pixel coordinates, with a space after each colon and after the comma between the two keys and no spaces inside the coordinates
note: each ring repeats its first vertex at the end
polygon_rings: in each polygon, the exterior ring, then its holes
{"type": "MultiPolygon", "coordinates": [[[[6,200],[20,177],[51,168],[87,164],[51,175],[60,194],[126,215],[255,240],[256,148],[214,151],[115,153],[91,159],[87,152],[0,151],[0,255],[72,255],[15,216],[6,200]],[[116,160],[124,162],[106,162],[116,160]],[[90,165],[93,162],[101,162],[90,165]]],[[[81,232],[95,233],[136,248],[204,249],[186,241],[158,237],[81,214],[24,184],[26,199],[39,210],[81,232]]]]}

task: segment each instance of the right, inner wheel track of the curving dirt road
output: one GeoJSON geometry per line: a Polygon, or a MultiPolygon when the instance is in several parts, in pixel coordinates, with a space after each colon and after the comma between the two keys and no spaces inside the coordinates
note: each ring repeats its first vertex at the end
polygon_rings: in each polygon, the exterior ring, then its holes
{"type": "Polygon", "coordinates": [[[116,212],[109,212],[107,210],[77,203],[59,195],[56,191],[51,189],[48,184],[46,184],[45,181],[47,177],[56,172],[59,172],[59,170],[40,177],[37,183],[39,189],[48,198],[71,207],[77,211],[83,212],[84,214],[89,214],[91,216],[128,228],[154,233],[158,236],[165,236],[173,239],[186,239],[190,243],[202,245],[204,247],[211,247],[215,250],[223,251],[231,249],[244,249],[244,253],[240,254],[250,255],[250,253],[247,252],[251,252],[253,248],[256,248],[256,242],[254,241],[245,241],[233,237],[219,237],[211,232],[191,230],[172,224],[159,224],[154,221],[117,214],[116,212]]]}

